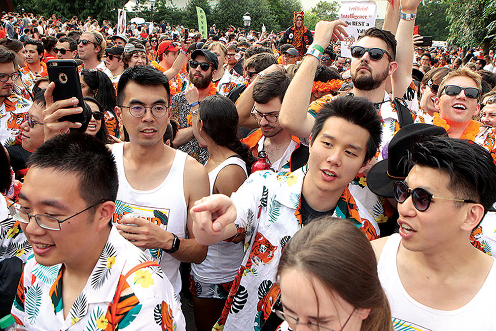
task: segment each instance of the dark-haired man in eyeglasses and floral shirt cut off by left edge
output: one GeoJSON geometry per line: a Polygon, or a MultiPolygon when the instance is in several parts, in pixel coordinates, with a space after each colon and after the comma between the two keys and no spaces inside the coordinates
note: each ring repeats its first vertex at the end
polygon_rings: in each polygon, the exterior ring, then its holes
{"type": "Polygon", "coordinates": [[[0,49],[0,143],[18,145],[21,143],[21,124],[31,103],[15,94],[14,81],[19,73],[14,66],[16,55],[5,48],[0,49]]]}

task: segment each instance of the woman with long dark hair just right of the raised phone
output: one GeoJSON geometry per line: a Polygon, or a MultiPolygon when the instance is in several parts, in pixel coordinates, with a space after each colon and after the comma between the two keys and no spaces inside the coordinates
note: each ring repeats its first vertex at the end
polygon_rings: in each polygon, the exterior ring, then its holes
{"type": "Polygon", "coordinates": [[[83,70],[81,90],[83,96],[93,97],[100,103],[109,135],[119,138],[119,123],[114,112],[117,105],[116,91],[109,76],[98,70],[83,70]]]}

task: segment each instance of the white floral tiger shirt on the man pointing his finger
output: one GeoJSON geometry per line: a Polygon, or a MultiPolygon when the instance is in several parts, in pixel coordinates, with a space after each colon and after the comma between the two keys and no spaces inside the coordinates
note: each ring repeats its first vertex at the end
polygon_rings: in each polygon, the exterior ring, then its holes
{"type": "MultiPolygon", "coordinates": [[[[307,166],[292,173],[258,171],[232,194],[235,225],[245,234],[245,255],[214,330],[260,330],[279,292],[277,265],[291,237],[302,227],[300,197],[307,166]]],[[[346,188],[334,217],[347,218],[376,239],[374,217],[346,188]]]]}

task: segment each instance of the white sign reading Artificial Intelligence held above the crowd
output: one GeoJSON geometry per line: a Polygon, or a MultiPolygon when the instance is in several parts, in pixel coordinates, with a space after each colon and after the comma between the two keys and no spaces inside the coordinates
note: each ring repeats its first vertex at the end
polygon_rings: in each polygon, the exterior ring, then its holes
{"type": "Polygon", "coordinates": [[[374,1],[343,1],[338,15],[348,24],[345,28],[348,37],[341,42],[341,56],[351,57],[349,49],[355,45],[358,36],[366,29],[375,26],[377,6],[374,1]]]}

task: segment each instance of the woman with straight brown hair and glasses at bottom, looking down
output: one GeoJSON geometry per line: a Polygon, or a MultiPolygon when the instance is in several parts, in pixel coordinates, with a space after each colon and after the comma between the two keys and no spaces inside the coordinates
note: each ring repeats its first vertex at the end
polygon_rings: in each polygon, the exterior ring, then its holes
{"type": "Polygon", "coordinates": [[[349,220],[325,216],[299,230],[282,250],[280,330],[393,331],[374,250],[349,220]],[[299,329],[299,328],[298,328],[299,329]]]}

